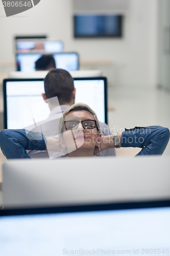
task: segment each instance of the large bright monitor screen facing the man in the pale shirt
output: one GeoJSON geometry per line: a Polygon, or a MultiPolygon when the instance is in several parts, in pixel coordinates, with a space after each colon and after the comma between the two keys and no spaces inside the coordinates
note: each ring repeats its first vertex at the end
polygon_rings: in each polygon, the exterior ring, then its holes
{"type": "MultiPolygon", "coordinates": [[[[107,123],[107,79],[105,77],[75,78],[75,102],[88,104],[101,122],[107,123]]],[[[23,122],[23,113],[31,105],[42,101],[41,109],[34,112],[36,122],[50,115],[48,105],[43,101],[43,79],[4,80],[4,125],[5,129],[22,129],[32,123],[23,122]]]]}

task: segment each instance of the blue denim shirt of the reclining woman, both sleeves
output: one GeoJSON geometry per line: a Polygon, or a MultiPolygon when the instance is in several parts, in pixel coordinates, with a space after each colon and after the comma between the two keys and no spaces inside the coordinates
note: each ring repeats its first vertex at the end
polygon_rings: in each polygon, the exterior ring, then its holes
{"type": "MultiPolygon", "coordinates": [[[[26,150],[43,151],[46,139],[41,133],[25,130],[3,130],[0,133],[0,145],[7,159],[30,158],[26,150]],[[28,138],[29,137],[29,138],[28,138]]],[[[122,133],[122,147],[140,147],[136,155],[162,155],[169,140],[169,130],[161,126],[134,127],[122,133]]]]}

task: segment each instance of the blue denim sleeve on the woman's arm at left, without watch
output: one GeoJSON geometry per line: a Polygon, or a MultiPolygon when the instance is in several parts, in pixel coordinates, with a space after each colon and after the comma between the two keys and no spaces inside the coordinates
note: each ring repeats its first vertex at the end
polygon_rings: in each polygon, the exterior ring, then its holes
{"type": "Polygon", "coordinates": [[[26,150],[45,150],[46,138],[41,133],[6,129],[0,133],[0,145],[7,159],[30,158],[26,150]]]}

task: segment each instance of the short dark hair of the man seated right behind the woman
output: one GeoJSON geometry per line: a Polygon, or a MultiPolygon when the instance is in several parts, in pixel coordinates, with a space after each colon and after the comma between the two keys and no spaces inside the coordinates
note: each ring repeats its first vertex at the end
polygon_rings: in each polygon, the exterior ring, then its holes
{"type": "Polygon", "coordinates": [[[60,105],[71,101],[74,88],[74,79],[63,69],[51,70],[44,79],[46,97],[49,99],[57,96],[60,105]]]}

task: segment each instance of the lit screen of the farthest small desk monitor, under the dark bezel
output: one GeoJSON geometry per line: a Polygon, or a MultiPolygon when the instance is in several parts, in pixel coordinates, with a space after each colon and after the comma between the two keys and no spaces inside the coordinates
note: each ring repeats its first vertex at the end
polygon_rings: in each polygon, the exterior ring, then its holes
{"type": "Polygon", "coordinates": [[[44,53],[62,52],[63,42],[56,39],[17,39],[16,50],[18,53],[31,53],[36,50],[44,53]]]}

